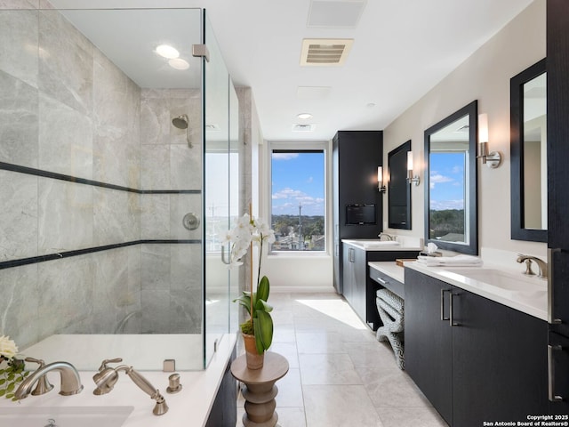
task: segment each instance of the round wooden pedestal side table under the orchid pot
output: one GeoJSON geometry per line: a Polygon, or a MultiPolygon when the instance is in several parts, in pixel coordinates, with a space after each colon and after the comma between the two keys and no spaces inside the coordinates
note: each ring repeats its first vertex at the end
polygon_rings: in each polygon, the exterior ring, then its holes
{"type": "Polygon", "coordinates": [[[278,393],[276,381],[288,372],[288,360],[272,351],[265,353],[260,369],[248,369],[245,355],[231,364],[231,374],[243,385],[241,393],[245,399],[243,424],[245,427],[275,427],[278,415],[275,412],[275,397],[278,393]]]}

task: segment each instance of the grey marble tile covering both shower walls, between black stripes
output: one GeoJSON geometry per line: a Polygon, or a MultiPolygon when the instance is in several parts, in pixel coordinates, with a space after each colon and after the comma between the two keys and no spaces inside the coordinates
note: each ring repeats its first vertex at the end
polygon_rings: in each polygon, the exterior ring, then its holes
{"type": "MultiPolygon", "coordinates": [[[[0,161],[132,189],[200,189],[201,94],[142,90],[59,12],[0,0],[0,161]],[[187,133],[172,118],[187,114],[187,133]]],[[[0,170],[0,262],[183,228],[199,194],[137,194],[0,170]]],[[[0,270],[0,334],[200,333],[201,246],[136,245],[0,270]]]]}

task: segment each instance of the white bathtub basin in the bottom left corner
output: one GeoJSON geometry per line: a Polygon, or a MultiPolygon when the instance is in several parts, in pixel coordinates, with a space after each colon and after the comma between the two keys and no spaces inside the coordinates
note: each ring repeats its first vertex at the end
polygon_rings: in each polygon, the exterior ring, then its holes
{"type": "Polygon", "coordinates": [[[10,427],[120,427],[134,407],[0,407],[0,425],[10,427]]]}

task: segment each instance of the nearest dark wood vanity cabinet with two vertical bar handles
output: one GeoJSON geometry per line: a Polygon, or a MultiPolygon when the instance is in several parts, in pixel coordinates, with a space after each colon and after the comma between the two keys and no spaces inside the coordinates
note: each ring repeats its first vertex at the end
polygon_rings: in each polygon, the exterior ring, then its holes
{"type": "Polygon", "coordinates": [[[454,427],[548,414],[547,328],[544,320],[405,269],[405,369],[454,427]]]}

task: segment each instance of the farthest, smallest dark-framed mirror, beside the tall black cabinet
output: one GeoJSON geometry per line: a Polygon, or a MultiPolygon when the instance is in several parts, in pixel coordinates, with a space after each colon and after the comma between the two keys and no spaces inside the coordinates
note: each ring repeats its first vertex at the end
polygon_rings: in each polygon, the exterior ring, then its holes
{"type": "Polygon", "coordinates": [[[389,228],[411,230],[411,184],[407,181],[407,152],[411,140],[388,153],[389,228]]]}

